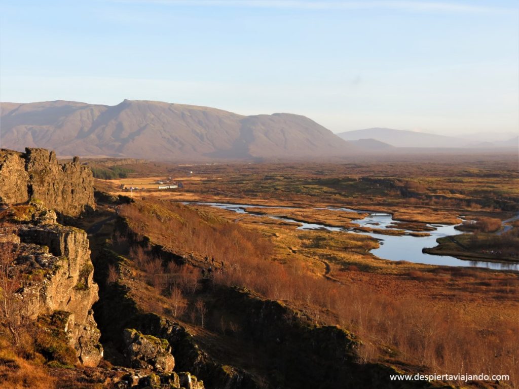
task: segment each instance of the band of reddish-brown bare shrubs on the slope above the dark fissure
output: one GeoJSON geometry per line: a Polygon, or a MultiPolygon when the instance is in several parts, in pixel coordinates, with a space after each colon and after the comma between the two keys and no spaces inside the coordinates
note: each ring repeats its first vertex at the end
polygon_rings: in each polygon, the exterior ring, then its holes
{"type": "MultiPolygon", "coordinates": [[[[226,264],[223,271],[214,274],[216,283],[244,286],[270,299],[313,306],[310,314],[318,323],[356,331],[366,341],[366,360],[378,359],[380,345],[390,345],[398,349],[399,359],[428,366],[430,371],[510,374],[514,382],[519,377],[519,326],[514,321],[481,318],[476,327],[449,310],[424,309],[419,298],[397,302],[362,285],[327,281],[297,263],[282,265],[270,260],[270,244],[261,235],[189,207],[146,201],[125,207],[122,215],[131,220],[137,232],[148,233],[152,228],[156,243],[185,252],[204,253],[203,248],[213,248],[218,261],[222,258],[226,264]],[[322,308],[332,313],[323,315],[322,308]]],[[[156,265],[150,269],[160,271],[156,265]]],[[[438,277],[418,271],[408,275],[421,281],[438,277]]],[[[502,288],[510,293],[517,286],[502,288]]]]}

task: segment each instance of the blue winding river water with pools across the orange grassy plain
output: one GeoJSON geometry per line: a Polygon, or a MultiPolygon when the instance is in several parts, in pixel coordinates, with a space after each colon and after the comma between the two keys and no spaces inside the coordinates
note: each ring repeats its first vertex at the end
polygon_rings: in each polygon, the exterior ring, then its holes
{"type": "MultiPolygon", "coordinates": [[[[234,204],[234,203],[210,203],[210,202],[194,202],[194,203],[184,203],[184,204],[199,204],[199,205],[209,205],[213,207],[217,207],[220,209],[233,211],[238,214],[248,214],[253,216],[259,216],[254,213],[249,213],[245,211],[248,207],[255,208],[276,208],[276,209],[294,209],[294,207],[280,207],[280,206],[266,206],[266,205],[248,205],[248,204],[234,204]]],[[[332,211],[347,211],[347,212],[357,212],[357,213],[369,213],[363,219],[353,220],[353,223],[359,224],[360,226],[366,227],[374,227],[374,228],[385,228],[386,226],[394,223],[396,220],[393,220],[393,216],[388,213],[373,213],[370,211],[360,211],[360,210],[352,210],[348,208],[327,208],[332,211]]],[[[268,215],[262,215],[268,216],[268,215]]],[[[293,220],[286,217],[281,216],[269,216],[274,219],[280,219],[284,221],[292,221],[294,223],[298,223],[300,226],[297,229],[303,230],[315,230],[322,229],[328,231],[347,231],[350,233],[364,234],[370,235],[371,237],[377,239],[380,242],[380,247],[375,248],[371,251],[372,254],[376,255],[379,258],[389,259],[392,261],[400,261],[405,260],[409,262],[415,263],[426,263],[427,265],[441,265],[441,266],[463,266],[463,267],[480,267],[480,268],[489,268],[494,270],[519,270],[518,263],[509,263],[509,262],[485,262],[485,261],[467,261],[458,259],[455,257],[445,256],[445,255],[431,255],[427,253],[422,253],[422,248],[424,247],[434,247],[437,245],[436,239],[446,237],[448,235],[457,235],[462,233],[461,231],[456,230],[454,225],[441,225],[441,224],[432,224],[428,225],[434,228],[433,231],[428,231],[430,233],[429,237],[412,237],[410,235],[385,235],[375,232],[363,232],[356,231],[351,228],[341,228],[341,227],[331,227],[326,226],[324,224],[314,224],[314,223],[303,223],[301,221],[293,220]]],[[[403,229],[398,227],[399,229],[403,229]]],[[[405,230],[405,229],[404,229],[405,230]]],[[[411,232],[411,231],[408,231],[411,232]]]]}

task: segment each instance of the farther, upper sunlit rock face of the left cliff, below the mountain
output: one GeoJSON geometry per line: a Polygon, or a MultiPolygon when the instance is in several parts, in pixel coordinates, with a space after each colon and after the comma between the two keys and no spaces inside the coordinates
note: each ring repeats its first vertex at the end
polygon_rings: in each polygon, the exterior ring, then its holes
{"type": "Polygon", "coordinates": [[[39,200],[63,216],[78,216],[94,207],[93,176],[86,166],[59,164],[54,151],[0,149],[0,203],[39,200]]]}

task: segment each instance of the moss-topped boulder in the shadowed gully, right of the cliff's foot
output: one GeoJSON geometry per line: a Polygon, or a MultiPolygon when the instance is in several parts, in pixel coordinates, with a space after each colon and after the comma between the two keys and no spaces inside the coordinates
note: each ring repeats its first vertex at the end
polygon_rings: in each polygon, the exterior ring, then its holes
{"type": "Polygon", "coordinates": [[[128,364],[133,368],[152,369],[159,373],[170,373],[175,367],[171,346],[166,339],[143,335],[134,329],[125,329],[123,339],[128,364]]]}

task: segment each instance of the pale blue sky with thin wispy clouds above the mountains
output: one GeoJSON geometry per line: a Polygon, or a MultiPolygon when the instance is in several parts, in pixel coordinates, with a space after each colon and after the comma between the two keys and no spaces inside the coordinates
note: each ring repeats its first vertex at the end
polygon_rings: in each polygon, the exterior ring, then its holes
{"type": "Polygon", "coordinates": [[[0,101],[519,132],[516,1],[0,0],[0,101]]]}

